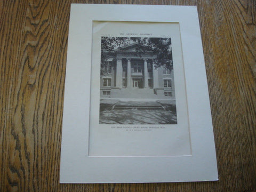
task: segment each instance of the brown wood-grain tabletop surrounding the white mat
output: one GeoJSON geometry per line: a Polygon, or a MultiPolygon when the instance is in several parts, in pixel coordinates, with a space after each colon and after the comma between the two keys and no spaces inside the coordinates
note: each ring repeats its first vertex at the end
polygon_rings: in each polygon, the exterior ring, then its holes
{"type": "Polygon", "coordinates": [[[1,0],[0,191],[256,191],[255,23],[254,0],[1,0]],[[219,181],[60,185],[70,3],[197,5],[219,181]]]}

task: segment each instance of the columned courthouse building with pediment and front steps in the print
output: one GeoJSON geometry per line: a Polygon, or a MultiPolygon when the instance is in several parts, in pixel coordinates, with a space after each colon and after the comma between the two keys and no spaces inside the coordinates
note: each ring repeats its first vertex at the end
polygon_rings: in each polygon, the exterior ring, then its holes
{"type": "Polygon", "coordinates": [[[137,54],[138,43],[109,53],[100,77],[100,98],[175,99],[173,70],[155,69],[152,52],[137,54]]]}

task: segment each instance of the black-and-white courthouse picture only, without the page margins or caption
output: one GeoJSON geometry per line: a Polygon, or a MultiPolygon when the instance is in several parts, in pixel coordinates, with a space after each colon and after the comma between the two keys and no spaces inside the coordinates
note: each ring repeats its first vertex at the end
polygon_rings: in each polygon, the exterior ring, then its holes
{"type": "Polygon", "coordinates": [[[177,124],[172,39],[101,37],[100,124],[177,124]]]}

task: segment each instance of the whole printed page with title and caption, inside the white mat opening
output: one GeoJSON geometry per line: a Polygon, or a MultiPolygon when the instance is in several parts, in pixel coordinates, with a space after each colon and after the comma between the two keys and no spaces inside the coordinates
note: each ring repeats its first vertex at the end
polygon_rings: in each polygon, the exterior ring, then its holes
{"type": "Polygon", "coordinates": [[[93,21],[89,155],[190,155],[185,88],[179,23],[93,21]]]}

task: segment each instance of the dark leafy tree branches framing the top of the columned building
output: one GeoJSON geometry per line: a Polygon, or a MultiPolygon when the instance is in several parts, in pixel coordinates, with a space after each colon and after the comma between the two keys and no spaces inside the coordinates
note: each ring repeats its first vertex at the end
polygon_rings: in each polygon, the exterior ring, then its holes
{"type": "MultiPolygon", "coordinates": [[[[131,43],[138,43],[136,54],[141,57],[143,53],[155,54],[153,60],[155,68],[165,67],[173,69],[171,38],[140,38],[140,37],[102,37],[101,38],[101,69],[107,65],[109,55],[114,54],[114,50],[131,43]]],[[[103,70],[101,70],[103,73],[103,70]]]]}

